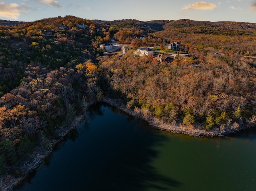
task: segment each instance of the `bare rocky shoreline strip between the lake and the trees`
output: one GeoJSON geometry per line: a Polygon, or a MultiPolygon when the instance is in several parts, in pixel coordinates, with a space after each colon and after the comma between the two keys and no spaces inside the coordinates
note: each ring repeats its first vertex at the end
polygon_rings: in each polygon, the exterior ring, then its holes
{"type": "MultiPolygon", "coordinates": [[[[230,129],[223,126],[222,129],[215,128],[212,130],[206,130],[202,126],[202,124],[199,124],[199,123],[193,124],[193,126],[185,126],[181,122],[175,122],[175,123],[169,124],[169,123],[163,122],[161,119],[158,119],[158,118],[144,118],[140,112],[135,112],[133,109],[126,107],[126,105],[123,104],[123,101],[121,99],[103,98],[102,102],[116,106],[119,109],[123,110],[124,112],[132,116],[135,116],[139,119],[146,120],[147,122],[149,122],[152,128],[155,128],[158,130],[166,130],[172,133],[181,133],[189,136],[198,136],[198,137],[200,136],[216,137],[216,136],[234,134],[238,131],[241,131],[247,128],[247,126],[246,127],[242,126],[239,128],[230,129]]],[[[33,154],[31,154],[28,159],[20,162],[17,165],[18,172],[20,172],[19,175],[17,176],[4,175],[2,177],[0,176],[0,190],[12,191],[15,187],[20,185],[24,181],[24,179],[26,179],[26,177],[32,171],[38,168],[39,165],[42,163],[42,161],[53,152],[53,148],[65,138],[68,132],[75,129],[77,124],[79,124],[82,120],[84,120],[84,116],[79,116],[76,118],[76,120],[72,125],[65,126],[64,128],[59,128],[57,130],[59,139],[50,141],[52,147],[48,147],[45,149],[38,149],[33,154]]]]}

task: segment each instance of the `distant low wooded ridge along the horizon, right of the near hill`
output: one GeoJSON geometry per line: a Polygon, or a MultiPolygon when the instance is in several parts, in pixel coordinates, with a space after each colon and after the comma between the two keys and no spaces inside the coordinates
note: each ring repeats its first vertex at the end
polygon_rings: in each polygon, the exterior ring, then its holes
{"type": "Polygon", "coordinates": [[[117,28],[135,28],[143,30],[146,33],[153,33],[162,30],[178,29],[184,33],[208,33],[221,35],[248,35],[256,34],[255,23],[245,22],[210,22],[210,21],[194,21],[189,19],[181,20],[153,20],[153,21],[138,21],[134,19],[123,19],[114,21],[94,20],[100,24],[107,26],[115,26],[117,28]]]}

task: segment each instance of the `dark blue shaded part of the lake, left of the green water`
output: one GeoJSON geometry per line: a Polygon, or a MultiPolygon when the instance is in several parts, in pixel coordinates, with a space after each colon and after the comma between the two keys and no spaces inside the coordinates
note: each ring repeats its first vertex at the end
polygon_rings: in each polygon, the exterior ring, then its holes
{"type": "Polygon", "coordinates": [[[46,160],[47,168],[40,167],[20,191],[143,191],[181,185],[151,165],[158,157],[153,148],[165,136],[106,104],[94,104],[88,116],[46,160]]]}

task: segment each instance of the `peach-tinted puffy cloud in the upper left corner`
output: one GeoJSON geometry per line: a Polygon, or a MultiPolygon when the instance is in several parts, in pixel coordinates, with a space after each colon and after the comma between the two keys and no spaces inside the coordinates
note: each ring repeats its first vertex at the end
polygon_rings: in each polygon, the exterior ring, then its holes
{"type": "Polygon", "coordinates": [[[16,3],[7,4],[0,0],[0,17],[18,19],[21,12],[29,12],[29,8],[16,3]]]}

